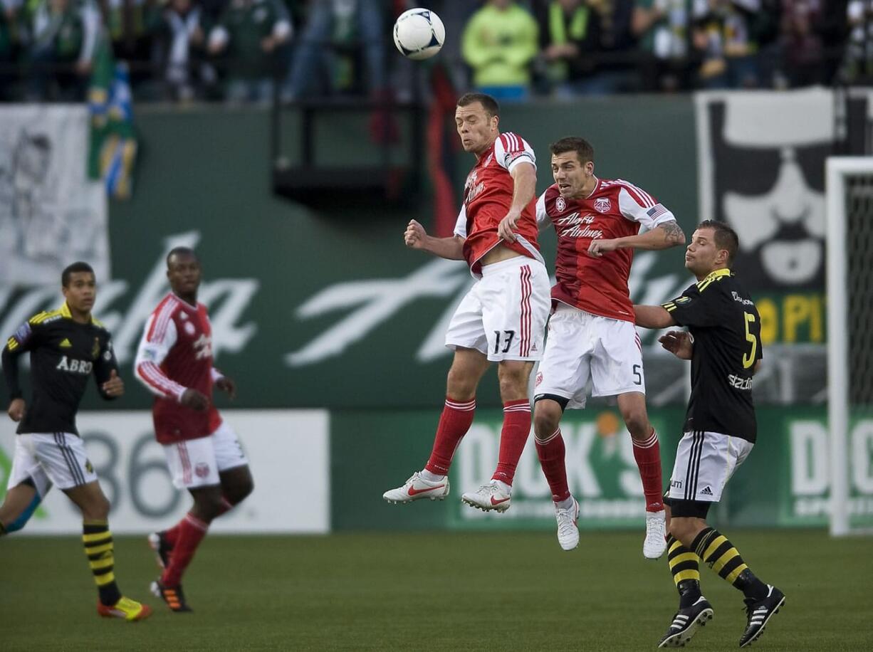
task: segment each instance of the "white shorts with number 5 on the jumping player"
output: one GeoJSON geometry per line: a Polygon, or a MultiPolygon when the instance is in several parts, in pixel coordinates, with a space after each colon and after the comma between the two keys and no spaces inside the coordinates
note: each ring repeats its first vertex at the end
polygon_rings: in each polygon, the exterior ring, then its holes
{"type": "Polygon", "coordinates": [[[567,408],[584,408],[589,379],[592,396],[645,394],[640,338],[629,321],[559,303],[548,320],[533,394],[560,396],[567,408]]]}

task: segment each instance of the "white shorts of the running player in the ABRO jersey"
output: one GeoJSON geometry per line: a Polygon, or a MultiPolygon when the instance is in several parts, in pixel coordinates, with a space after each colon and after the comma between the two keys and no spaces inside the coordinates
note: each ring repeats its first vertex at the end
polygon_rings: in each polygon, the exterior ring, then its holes
{"type": "Polygon", "coordinates": [[[85,443],[81,437],[66,432],[15,436],[15,458],[7,490],[23,483],[28,477],[43,498],[52,488],[52,483],[58,489],[72,489],[97,480],[97,474],[85,452],[85,443]]]}

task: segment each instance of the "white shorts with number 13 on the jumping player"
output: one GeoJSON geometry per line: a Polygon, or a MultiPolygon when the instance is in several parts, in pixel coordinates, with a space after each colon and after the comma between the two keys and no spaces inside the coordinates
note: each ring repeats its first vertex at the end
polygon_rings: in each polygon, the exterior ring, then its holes
{"type": "Polygon", "coordinates": [[[476,349],[492,362],[540,360],[550,292],[538,260],[518,256],[485,265],[452,315],[445,346],[476,349]]]}

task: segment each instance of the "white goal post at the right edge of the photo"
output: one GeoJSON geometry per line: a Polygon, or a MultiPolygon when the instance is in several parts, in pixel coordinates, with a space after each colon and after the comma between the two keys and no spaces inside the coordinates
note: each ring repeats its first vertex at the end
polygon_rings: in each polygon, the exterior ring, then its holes
{"type": "MultiPolygon", "coordinates": [[[[845,536],[856,532],[870,532],[863,525],[853,523],[851,504],[852,473],[849,461],[849,435],[853,407],[859,396],[858,367],[861,374],[873,374],[873,350],[850,351],[852,337],[858,344],[860,331],[855,328],[859,315],[851,312],[852,301],[857,299],[856,292],[866,292],[865,285],[852,285],[853,282],[869,284],[869,278],[850,278],[849,269],[856,266],[857,261],[852,256],[863,257],[873,270],[873,240],[858,237],[856,232],[849,233],[849,215],[852,208],[849,205],[849,185],[863,184],[863,195],[870,191],[870,201],[861,207],[863,218],[870,220],[873,230],[873,156],[829,157],[826,164],[827,193],[827,303],[828,303],[828,428],[830,436],[830,533],[832,536],[845,536]],[[867,213],[870,212],[868,216],[867,213]],[[851,238],[851,239],[849,239],[851,238]],[[865,243],[868,243],[865,246],[865,243]],[[858,244],[853,249],[853,245],[858,244]],[[851,258],[851,259],[850,259],[851,258]],[[855,321],[853,322],[853,319],[855,321]],[[853,326],[854,325],[854,326],[853,326]],[[851,356],[851,357],[850,357],[851,356]],[[855,366],[853,375],[853,364],[855,366]],[[864,371],[866,368],[866,372],[864,371]]],[[[856,277],[857,275],[853,275],[856,277]]],[[[863,297],[866,296],[863,294],[863,297]]],[[[873,306],[870,306],[873,308],[873,306]]],[[[867,316],[864,319],[869,319],[867,316]]],[[[873,341],[873,338],[867,338],[873,341]]],[[[862,376],[862,378],[864,378],[862,376]]],[[[873,380],[868,380],[871,383],[873,380]]],[[[870,408],[867,402],[867,390],[873,384],[864,384],[861,388],[861,404],[857,408],[870,408]]],[[[873,411],[871,411],[873,415],[873,411]]],[[[866,440],[863,440],[862,450],[853,450],[853,455],[859,452],[868,457],[866,440]]],[[[857,446],[854,447],[855,449],[857,446]]],[[[855,459],[856,464],[871,463],[868,459],[855,459]]],[[[865,500],[863,497],[862,500],[865,500]]],[[[867,525],[873,525],[873,519],[866,518],[867,525]]]]}

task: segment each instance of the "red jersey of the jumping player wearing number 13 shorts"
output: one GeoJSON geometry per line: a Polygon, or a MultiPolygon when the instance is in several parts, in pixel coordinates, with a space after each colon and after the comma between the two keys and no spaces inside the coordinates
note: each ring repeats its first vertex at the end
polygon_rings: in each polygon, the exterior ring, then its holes
{"type": "MultiPolygon", "coordinates": [[[[482,265],[479,259],[498,244],[501,244],[497,227],[512,206],[512,168],[519,163],[537,164],[533,148],[525,139],[512,132],[500,134],[491,148],[482,154],[476,165],[467,175],[464,183],[464,203],[457,216],[455,235],[464,240],[464,258],[470,265],[473,276],[481,278],[482,265]]],[[[515,233],[514,243],[502,242],[505,247],[517,251],[522,256],[543,262],[540,245],[537,244],[539,231],[536,221],[536,200],[521,211],[515,233]]]]}

